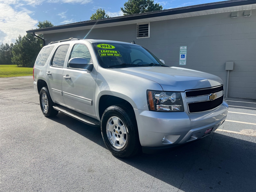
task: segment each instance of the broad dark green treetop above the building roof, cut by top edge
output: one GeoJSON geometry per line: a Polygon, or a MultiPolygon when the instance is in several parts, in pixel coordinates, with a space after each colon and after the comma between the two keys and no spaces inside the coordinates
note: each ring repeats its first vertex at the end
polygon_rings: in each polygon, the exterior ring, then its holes
{"type": "Polygon", "coordinates": [[[128,0],[124,3],[124,8],[121,7],[124,15],[159,11],[162,9],[162,5],[159,5],[159,3],[154,4],[153,0],[128,0]]]}

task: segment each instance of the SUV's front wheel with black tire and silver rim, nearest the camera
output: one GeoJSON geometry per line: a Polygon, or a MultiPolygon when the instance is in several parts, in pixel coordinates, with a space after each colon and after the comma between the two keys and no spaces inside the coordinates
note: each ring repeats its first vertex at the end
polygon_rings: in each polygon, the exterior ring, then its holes
{"type": "Polygon", "coordinates": [[[113,105],[104,111],[101,134],[106,147],[117,157],[132,157],[141,150],[135,115],[125,106],[113,105]]]}

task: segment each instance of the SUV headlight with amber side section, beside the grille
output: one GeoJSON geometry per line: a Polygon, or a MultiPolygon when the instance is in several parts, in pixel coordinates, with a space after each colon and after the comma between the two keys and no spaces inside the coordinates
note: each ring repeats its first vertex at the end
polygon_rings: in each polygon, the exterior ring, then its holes
{"type": "Polygon", "coordinates": [[[147,90],[147,103],[150,111],[184,111],[180,92],[147,90]]]}

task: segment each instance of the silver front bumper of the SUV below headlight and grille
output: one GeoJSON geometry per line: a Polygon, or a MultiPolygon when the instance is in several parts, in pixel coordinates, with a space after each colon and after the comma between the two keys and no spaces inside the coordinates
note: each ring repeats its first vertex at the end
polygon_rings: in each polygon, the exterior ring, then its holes
{"type": "Polygon", "coordinates": [[[142,147],[169,148],[201,138],[206,130],[215,131],[226,119],[225,100],[216,109],[188,114],[186,112],[154,112],[134,109],[142,147]],[[164,142],[163,137],[166,136],[164,142]],[[167,147],[168,146],[168,147],[167,147]]]}

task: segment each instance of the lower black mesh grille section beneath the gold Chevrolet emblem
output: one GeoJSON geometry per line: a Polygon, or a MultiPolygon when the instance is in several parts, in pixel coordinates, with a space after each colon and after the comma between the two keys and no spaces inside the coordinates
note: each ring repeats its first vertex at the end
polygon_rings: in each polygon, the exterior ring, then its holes
{"type": "Polygon", "coordinates": [[[189,113],[198,113],[198,112],[212,110],[222,104],[223,98],[224,98],[224,95],[211,101],[188,103],[188,111],[189,113]]]}

